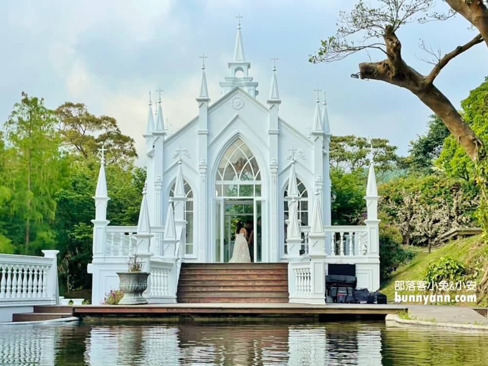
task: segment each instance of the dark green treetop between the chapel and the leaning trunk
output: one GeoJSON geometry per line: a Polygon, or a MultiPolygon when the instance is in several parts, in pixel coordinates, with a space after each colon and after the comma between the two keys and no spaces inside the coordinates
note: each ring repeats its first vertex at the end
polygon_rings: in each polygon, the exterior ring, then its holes
{"type": "Polygon", "coordinates": [[[436,115],[431,115],[427,122],[427,134],[418,136],[410,142],[410,156],[406,159],[407,167],[412,172],[432,174],[434,162],[439,158],[444,140],[449,136],[449,130],[436,115]]]}

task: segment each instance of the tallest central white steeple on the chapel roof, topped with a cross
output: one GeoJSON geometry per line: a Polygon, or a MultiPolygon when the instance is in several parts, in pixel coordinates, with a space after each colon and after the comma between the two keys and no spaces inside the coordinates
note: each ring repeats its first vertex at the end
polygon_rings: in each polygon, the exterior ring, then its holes
{"type": "Polygon", "coordinates": [[[244,57],[244,45],[241,33],[241,19],[244,17],[239,14],[236,18],[239,22],[237,25],[234,57],[231,62],[227,63],[230,69],[230,76],[225,77],[224,81],[221,81],[219,84],[222,88],[222,94],[227,94],[236,86],[239,86],[250,96],[256,98],[258,96],[258,90],[256,90],[258,83],[252,81],[253,78],[249,76],[251,63],[246,62],[244,57]]]}

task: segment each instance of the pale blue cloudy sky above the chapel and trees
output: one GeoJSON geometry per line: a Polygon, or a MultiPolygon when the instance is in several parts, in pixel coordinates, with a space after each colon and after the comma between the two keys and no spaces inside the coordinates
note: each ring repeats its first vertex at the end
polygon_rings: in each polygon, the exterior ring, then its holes
{"type": "MultiPolygon", "coordinates": [[[[206,60],[210,98],[220,95],[228,75],[238,13],[246,61],[265,102],[272,61],[279,58],[278,84],[283,119],[307,134],[317,85],[327,92],[332,133],[389,139],[406,154],[408,142],[425,131],[431,114],[408,91],[379,81],[351,79],[358,63],[381,54],[353,55],[312,65],[308,55],[334,34],[340,10],[356,1],[2,1],[0,4],[0,121],[22,91],[44,97],[55,108],[83,102],[90,112],[115,117],[122,132],[143,151],[148,90],[159,85],[165,118],[174,130],[197,115],[198,58],[206,60]]],[[[438,9],[446,9],[439,1],[438,9]]],[[[397,34],[408,63],[427,74],[430,65],[419,39],[444,53],[474,37],[461,17],[424,25],[408,24],[397,34]]],[[[436,85],[457,107],[488,74],[488,50],[477,45],[451,61],[436,85]]],[[[143,161],[139,161],[143,163],[143,161]]]]}

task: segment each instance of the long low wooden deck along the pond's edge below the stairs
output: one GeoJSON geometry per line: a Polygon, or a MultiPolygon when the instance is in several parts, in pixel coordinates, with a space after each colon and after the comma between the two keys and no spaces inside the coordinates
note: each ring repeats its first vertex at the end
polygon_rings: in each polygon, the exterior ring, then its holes
{"type": "Polygon", "coordinates": [[[150,305],[74,305],[74,316],[159,316],[159,315],[264,315],[264,316],[383,316],[407,310],[407,305],[327,304],[305,305],[288,303],[195,303],[150,305]]]}

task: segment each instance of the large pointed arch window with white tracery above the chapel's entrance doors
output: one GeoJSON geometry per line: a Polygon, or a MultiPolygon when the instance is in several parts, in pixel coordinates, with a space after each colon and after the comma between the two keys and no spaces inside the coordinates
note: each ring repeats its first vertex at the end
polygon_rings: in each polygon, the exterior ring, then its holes
{"type": "Polygon", "coordinates": [[[215,175],[218,197],[261,196],[261,172],[249,147],[237,139],[225,151],[215,175]]]}

